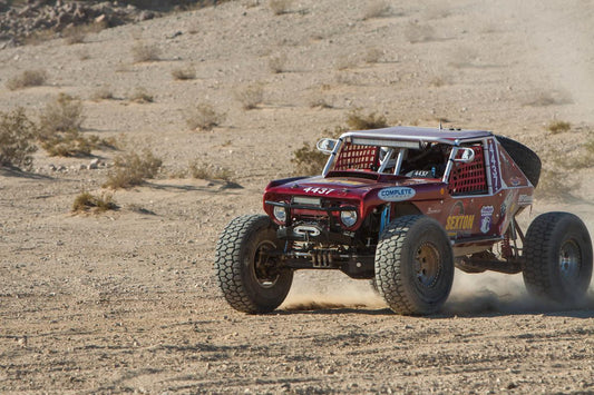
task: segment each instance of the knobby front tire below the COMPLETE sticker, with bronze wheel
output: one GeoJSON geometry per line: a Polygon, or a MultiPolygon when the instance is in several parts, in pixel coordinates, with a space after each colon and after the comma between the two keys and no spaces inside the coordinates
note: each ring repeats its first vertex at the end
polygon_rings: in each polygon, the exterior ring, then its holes
{"type": "Polygon", "coordinates": [[[376,283],[393,312],[438,312],[452,282],[454,255],[438,221],[420,215],[403,216],[382,231],[376,250],[376,283]]]}

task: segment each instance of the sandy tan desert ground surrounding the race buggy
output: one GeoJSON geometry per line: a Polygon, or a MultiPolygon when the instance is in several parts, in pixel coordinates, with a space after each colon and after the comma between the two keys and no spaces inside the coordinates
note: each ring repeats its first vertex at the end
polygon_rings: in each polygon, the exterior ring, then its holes
{"type": "MultiPolygon", "coordinates": [[[[0,110],[37,119],[64,92],[84,134],[119,150],[0,169],[1,393],[594,393],[594,289],[580,309],[543,305],[522,275],[456,271],[444,310],[391,313],[367,280],[298,273],[269,315],[228,307],[214,278],[217,235],[261,213],[292,152],[360,109],[391,125],[494,130],[554,170],[583,155],[594,125],[594,1],[267,1],[214,8],[0,50],[0,110]],[[289,4],[289,2],[288,2],[289,4]],[[388,4],[389,7],[380,7],[388,4]],[[379,12],[378,9],[381,9],[379,12]],[[159,50],[135,61],[133,48],[159,50]],[[176,80],[172,71],[196,77],[176,80]],[[9,90],[22,70],[42,86],[9,90]],[[242,89],[264,97],[244,109],[242,89]],[[129,98],[142,88],[153,102],[129,98]],[[94,99],[98,90],[111,99],[94,99]],[[317,106],[322,102],[323,106],[317,106]],[[199,103],[225,117],[189,130],[199,103]],[[571,130],[553,134],[563,120],[571,130]],[[163,159],[155,179],[117,189],[118,210],[72,214],[100,194],[124,151],[163,159]],[[99,159],[105,166],[89,170],[99,159]],[[185,176],[198,159],[241,188],[185,176]]],[[[561,168],[548,210],[594,233],[592,168],[561,168]],[[565,189],[564,189],[565,188],[565,189]]]]}

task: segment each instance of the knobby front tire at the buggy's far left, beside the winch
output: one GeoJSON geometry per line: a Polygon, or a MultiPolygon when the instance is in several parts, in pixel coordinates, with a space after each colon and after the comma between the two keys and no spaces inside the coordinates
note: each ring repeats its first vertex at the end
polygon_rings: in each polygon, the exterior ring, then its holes
{"type": "Polygon", "coordinates": [[[293,271],[280,268],[277,260],[265,254],[279,247],[267,216],[241,216],[225,227],[216,245],[214,266],[223,295],[233,308],[269,313],[283,303],[293,271]]]}

